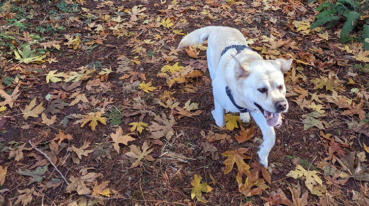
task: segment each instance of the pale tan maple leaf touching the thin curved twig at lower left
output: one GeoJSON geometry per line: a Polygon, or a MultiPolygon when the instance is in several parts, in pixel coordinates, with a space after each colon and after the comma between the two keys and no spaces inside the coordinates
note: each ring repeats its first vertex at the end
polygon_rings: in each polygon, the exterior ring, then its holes
{"type": "Polygon", "coordinates": [[[91,190],[86,186],[85,181],[93,182],[101,176],[101,173],[93,172],[77,178],[71,176],[69,178],[70,184],[66,187],[66,192],[71,193],[72,191],[77,191],[79,195],[88,195],[91,193],[91,190]]]}

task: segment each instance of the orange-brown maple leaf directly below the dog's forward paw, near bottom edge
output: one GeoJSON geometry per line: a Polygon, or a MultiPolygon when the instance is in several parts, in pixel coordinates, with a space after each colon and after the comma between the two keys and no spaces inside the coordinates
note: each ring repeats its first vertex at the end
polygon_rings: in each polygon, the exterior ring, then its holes
{"type": "Polygon", "coordinates": [[[243,183],[242,174],[239,172],[236,176],[236,180],[238,182],[238,190],[246,197],[261,195],[262,191],[268,188],[265,181],[259,179],[258,173],[247,176],[245,183],[243,183]]]}

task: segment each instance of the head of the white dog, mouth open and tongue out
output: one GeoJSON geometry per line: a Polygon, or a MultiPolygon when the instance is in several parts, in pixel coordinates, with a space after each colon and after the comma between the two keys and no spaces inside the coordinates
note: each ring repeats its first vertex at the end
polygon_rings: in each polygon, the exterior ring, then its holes
{"type": "Polygon", "coordinates": [[[260,110],[269,126],[280,126],[282,123],[280,114],[288,110],[283,73],[289,70],[292,59],[249,58],[241,62],[233,57],[237,61],[235,65],[237,90],[245,97],[242,101],[249,109],[260,110]]]}

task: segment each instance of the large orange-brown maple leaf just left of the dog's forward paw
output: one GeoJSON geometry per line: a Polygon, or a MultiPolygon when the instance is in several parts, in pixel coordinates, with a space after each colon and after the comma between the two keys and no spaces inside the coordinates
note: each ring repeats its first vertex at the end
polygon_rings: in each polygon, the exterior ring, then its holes
{"type": "Polygon", "coordinates": [[[224,160],[223,164],[225,165],[224,169],[224,175],[228,174],[232,171],[233,165],[236,163],[238,168],[238,173],[243,173],[246,176],[250,175],[250,166],[246,164],[244,159],[249,159],[251,157],[246,156],[244,153],[246,153],[248,149],[247,148],[239,148],[236,150],[228,150],[221,155],[226,156],[227,159],[224,160]]]}

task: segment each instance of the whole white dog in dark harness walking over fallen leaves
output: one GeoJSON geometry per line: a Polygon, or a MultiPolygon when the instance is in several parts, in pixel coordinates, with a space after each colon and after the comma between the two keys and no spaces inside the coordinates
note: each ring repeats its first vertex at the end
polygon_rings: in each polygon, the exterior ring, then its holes
{"type": "Polygon", "coordinates": [[[292,59],[265,60],[247,46],[244,35],[225,26],[206,26],[184,36],[178,49],[208,40],[206,50],[212,78],[215,124],[224,126],[224,110],[240,112],[243,122],[250,114],[263,133],[257,152],[260,163],[267,168],[268,156],[276,141],[274,127],[282,124],[281,113],[287,112],[284,76],[292,59]]]}

